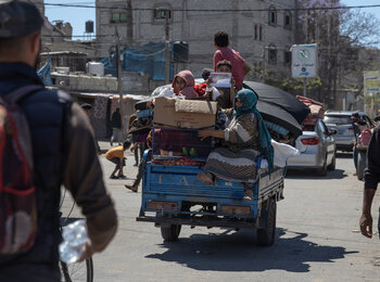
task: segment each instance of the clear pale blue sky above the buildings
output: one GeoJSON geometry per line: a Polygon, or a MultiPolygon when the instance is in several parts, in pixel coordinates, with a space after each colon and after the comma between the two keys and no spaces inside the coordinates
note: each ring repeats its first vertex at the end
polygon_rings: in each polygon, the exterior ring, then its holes
{"type": "MultiPolygon", "coordinates": [[[[45,0],[45,3],[64,3],[64,4],[94,4],[94,0],[45,0]]],[[[341,0],[345,5],[371,5],[380,4],[380,0],[341,0]]],[[[367,13],[372,13],[380,20],[380,8],[362,9],[367,13]]],[[[87,21],[96,22],[96,10],[87,8],[62,8],[46,5],[46,16],[50,22],[63,20],[73,26],[74,36],[83,36],[87,21]]],[[[75,39],[75,38],[74,38],[75,39]]]]}

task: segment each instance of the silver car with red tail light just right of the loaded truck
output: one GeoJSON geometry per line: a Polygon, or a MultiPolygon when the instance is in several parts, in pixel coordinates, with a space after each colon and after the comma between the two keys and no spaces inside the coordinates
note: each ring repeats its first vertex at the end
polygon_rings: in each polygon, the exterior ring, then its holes
{"type": "Polygon", "coordinates": [[[327,170],[335,169],[335,141],[332,134],[335,130],[329,131],[321,119],[315,125],[304,126],[303,134],[295,141],[295,148],[301,155],[288,158],[287,167],[290,169],[317,169],[320,176],[327,170]]]}

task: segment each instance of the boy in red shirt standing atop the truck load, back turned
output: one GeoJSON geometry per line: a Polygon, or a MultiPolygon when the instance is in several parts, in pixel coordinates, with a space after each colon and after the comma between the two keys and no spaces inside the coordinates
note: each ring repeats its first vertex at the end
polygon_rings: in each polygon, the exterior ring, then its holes
{"type": "Polygon", "coordinates": [[[243,78],[251,70],[251,67],[245,63],[239,52],[229,48],[228,34],[217,31],[214,35],[214,47],[217,49],[214,53],[214,70],[217,70],[219,61],[229,61],[232,65],[232,77],[236,81],[236,88],[239,91],[243,88],[243,78]]]}

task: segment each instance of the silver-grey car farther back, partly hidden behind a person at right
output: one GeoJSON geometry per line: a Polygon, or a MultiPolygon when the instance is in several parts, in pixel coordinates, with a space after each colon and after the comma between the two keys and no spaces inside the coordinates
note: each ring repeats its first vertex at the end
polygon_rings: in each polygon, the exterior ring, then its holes
{"type": "MultiPolygon", "coordinates": [[[[351,152],[355,142],[354,128],[351,121],[351,115],[354,112],[349,111],[327,111],[325,113],[324,121],[329,130],[337,130],[333,136],[337,143],[337,150],[351,152]]],[[[360,121],[372,127],[373,124],[364,112],[357,112],[360,121]]]]}

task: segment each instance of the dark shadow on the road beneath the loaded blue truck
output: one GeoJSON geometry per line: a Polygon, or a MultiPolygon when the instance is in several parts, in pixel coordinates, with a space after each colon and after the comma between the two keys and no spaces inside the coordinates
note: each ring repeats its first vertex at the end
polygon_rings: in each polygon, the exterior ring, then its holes
{"type": "Polygon", "coordinates": [[[161,244],[166,252],[148,258],[178,262],[197,270],[265,271],[281,269],[308,272],[311,261],[331,262],[357,253],[341,246],[318,245],[305,240],[306,233],[276,229],[271,247],[255,245],[255,232],[227,230],[224,233],[193,234],[175,243],[161,244]]]}

